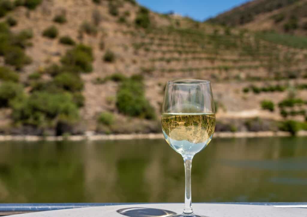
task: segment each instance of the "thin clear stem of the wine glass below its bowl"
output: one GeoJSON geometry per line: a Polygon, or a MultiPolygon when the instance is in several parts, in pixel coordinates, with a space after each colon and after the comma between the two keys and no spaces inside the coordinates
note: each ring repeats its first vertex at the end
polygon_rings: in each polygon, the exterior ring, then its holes
{"type": "Polygon", "coordinates": [[[193,157],[183,157],[185,161],[185,209],[183,214],[193,214],[191,198],[191,167],[193,157]]]}

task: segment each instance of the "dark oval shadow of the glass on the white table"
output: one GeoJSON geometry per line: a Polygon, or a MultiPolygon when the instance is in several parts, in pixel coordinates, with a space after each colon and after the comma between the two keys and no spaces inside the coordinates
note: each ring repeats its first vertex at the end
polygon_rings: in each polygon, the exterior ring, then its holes
{"type": "Polygon", "coordinates": [[[119,209],[117,210],[117,212],[121,215],[130,216],[130,217],[155,217],[155,216],[165,217],[177,214],[169,210],[144,208],[144,207],[131,207],[131,208],[119,209]]]}

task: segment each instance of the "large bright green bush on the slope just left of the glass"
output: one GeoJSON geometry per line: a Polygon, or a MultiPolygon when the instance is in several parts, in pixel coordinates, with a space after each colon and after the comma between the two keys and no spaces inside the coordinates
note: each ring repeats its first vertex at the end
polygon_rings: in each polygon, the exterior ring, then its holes
{"type": "Polygon", "coordinates": [[[154,108],[146,100],[144,86],[141,82],[126,80],[117,93],[116,106],[119,112],[129,116],[139,116],[154,119],[154,108]]]}

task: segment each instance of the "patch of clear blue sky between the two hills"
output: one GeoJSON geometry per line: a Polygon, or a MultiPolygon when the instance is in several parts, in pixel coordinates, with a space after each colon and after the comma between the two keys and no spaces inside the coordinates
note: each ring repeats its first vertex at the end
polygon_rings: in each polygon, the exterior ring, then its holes
{"type": "Polygon", "coordinates": [[[195,20],[203,21],[223,11],[239,6],[247,0],[137,0],[150,10],[165,13],[170,10],[195,20]]]}

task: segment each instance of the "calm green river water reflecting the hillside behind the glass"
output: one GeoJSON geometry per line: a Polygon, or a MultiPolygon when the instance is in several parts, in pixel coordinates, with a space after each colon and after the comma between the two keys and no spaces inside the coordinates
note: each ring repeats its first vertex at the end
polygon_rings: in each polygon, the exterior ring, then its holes
{"type": "MultiPolygon", "coordinates": [[[[193,202],[307,201],[306,137],[215,139],[192,164],[193,202]]],[[[164,140],[0,143],[0,203],[183,202],[164,140]]]]}

